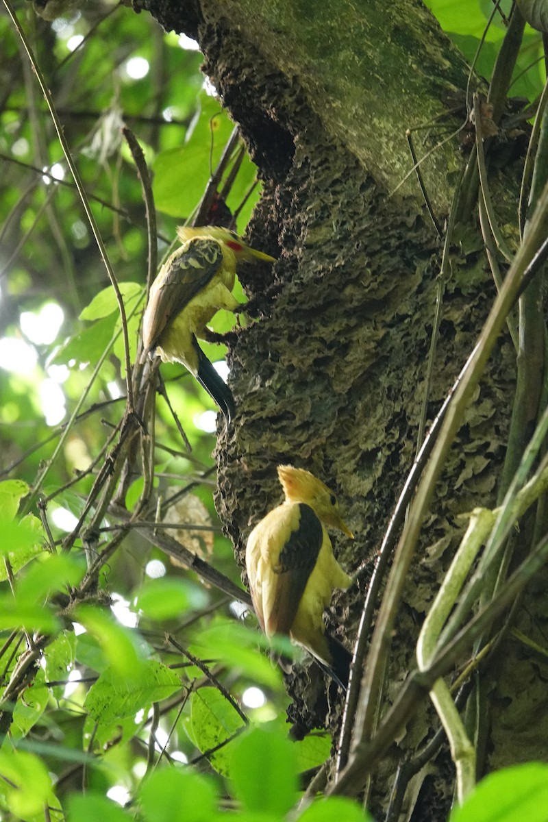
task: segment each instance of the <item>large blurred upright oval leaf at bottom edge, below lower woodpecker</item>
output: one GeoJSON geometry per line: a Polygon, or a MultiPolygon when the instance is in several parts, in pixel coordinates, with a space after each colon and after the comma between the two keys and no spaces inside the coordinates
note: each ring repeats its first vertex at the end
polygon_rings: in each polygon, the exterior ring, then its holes
{"type": "Polygon", "coordinates": [[[230,775],[247,810],[283,815],[297,801],[297,756],[287,735],[253,728],[234,746],[230,775]]]}

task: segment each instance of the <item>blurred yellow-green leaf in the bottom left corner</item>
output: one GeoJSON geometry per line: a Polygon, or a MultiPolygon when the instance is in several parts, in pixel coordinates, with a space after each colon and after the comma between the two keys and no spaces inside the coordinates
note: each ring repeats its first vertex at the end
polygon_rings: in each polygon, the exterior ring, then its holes
{"type": "Polygon", "coordinates": [[[0,750],[0,774],[2,795],[17,819],[44,814],[44,806],[55,802],[48,769],[35,754],[0,750]]]}

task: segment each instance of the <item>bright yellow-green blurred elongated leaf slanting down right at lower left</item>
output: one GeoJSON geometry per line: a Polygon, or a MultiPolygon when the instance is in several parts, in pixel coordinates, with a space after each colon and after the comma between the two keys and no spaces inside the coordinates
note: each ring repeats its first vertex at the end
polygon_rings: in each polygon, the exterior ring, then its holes
{"type": "Polygon", "coordinates": [[[139,674],[145,654],[134,631],[120,625],[111,613],[87,605],[77,608],[76,617],[99,641],[117,673],[125,677],[139,674]]]}

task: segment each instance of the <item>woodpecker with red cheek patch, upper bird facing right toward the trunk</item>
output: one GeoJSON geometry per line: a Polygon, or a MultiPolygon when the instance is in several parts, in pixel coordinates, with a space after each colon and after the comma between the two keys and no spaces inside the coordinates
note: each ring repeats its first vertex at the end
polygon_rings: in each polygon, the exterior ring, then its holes
{"type": "Polygon", "coordinates": [[[179,227],[182,246],[168,258],[150,288],[143,316],[145,353],[163,363],[182,363],[219,405],[229,421],[234,414],[232,391],[221,379],[197,339],[219,308],[237,312],[232,290],[241,261],[274,257],[246,246],[237,234],[219,226],[179,227]]]}

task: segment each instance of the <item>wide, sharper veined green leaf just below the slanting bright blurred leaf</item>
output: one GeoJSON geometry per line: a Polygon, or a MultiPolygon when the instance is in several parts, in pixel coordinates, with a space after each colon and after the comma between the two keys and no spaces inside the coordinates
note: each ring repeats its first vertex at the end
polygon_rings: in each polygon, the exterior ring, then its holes
{"type": "Polygon", "coordinates": [[[149,659],[136,675],[123,676],[107,668],[85,697],[84,708],[99,723],[133,717],[153,702],[160,702],[181,687],[177,674],[162,663],[149,659]]]}

